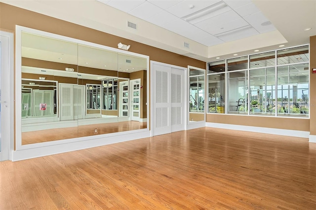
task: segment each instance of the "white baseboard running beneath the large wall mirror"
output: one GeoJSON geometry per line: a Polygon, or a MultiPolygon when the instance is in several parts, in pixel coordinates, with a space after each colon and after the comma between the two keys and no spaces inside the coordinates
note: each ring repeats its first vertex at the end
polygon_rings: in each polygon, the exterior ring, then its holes
{"type": "Polygon", "coordinates": [[[29,148],[29,149],[22,149],[17,150],[13,152],[13,160],[12,161],[19,161],[19,160],[25,160],[30,158],[36,158],[36,157],[42,157],[46,155],[53,155],[63,152],[70,152],[70,151],[76,151],[80,149],[86,149],[96,146],[102,146],[112,143],[118,143],[128,140],[136,140],[141,138],[148,138],[150,137],[149,131],[139,131],[137,130],[136,133],[130,134],[121,132],[119,135],[115,135],[112,137],[102,137],[102,135],[99,135],[97,138],[94,137],[94,139],[91,140],[82,140],[82,141],[73,141],[68,143],[62,143],[62,144],[52,144],[45,147],[36,147],[36,148],[29,148]]]}

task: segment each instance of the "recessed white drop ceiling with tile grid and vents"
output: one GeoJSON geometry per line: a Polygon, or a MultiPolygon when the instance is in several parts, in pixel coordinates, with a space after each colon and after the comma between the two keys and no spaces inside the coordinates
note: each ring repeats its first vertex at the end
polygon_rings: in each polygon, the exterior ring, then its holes
{"type": "Polygon", "coordinates": [[[273,25],[261,25],[268,20],[250,0],[99,1],[206,46],[276,30],[273,25]],[[207,13],[206,20],[203,20],[203,17],[191,23],[184,20],[185,16],[221,3],[225,3],[226,6],[218,10],[213,9],[211,14],[207,13]],[[237,33],[234,32],[235,29],[244,26],[249,26],[249,28],[243,32],[240,30],[237,33]],[[217,37],[217,34],[230,31],[232,31],[231,35],[217,37]]]}

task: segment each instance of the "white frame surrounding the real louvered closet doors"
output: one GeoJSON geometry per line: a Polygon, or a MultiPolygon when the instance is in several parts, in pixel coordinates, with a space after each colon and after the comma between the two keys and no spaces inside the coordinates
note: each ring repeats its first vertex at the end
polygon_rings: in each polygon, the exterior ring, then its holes
{"type": "MultiPolygon", "coordinates": [[[[188,69],[187,68],[184,68],[184,67],[179,67],[179,66],[175,66],[175,65],[170,65],[170,64],[165,64],[165,63],[161,63],[161,62],[158,62],[158,61],[150,61],[150,91],[151,91],[151,94],[150,94],[150,134],[151,136],[153,136],[153,121],[156,120],[156,119],[153,119],[154,117],[154,97],[156,96],[156,93],[153,92],[154,90],[154,78],[152,75],[154,75],[154,64],[157,64],[157,65],[162,65],[162,66],[166,66],[166,67],[170,67],[170,68],[175,68],[175,69],[180,69],[180,70],[184,70],[184,82],[183,82],[183,88],[184,88],[184,98],[183,98],[183,101],[185,102],[185,105],[184,105],[184,112],[183,112],[183,120],[184,120],[184,130],[187,130],[187,111],[188,111],[188,106],[187,106],[187,101],[188,101],[188,90],[187,90],[187,87],[188,87],[188,69]]],[[[171,103],[171,102],[170,102],[171,103]]]]}

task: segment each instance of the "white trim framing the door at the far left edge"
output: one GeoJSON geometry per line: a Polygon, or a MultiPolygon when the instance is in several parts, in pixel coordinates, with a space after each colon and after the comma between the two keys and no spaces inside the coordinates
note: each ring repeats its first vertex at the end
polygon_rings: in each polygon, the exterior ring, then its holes
{"type": "MultiPolygon", "coordinates": [[[[1,157],[0,160],[12,160],[12,153],[14,149],[14,35],[13,33],[9,32],[3,32],[0,31],[0,35],[7,37],[8,39],[8,45],[7,45],[7,55],[8,55],[8,60],[7,60],[7,65],[8,65],[8,71],[6,73],[6,81],[7,84],[7,91],[6,94],[8,95],[7,97],[7,140],[6,142],[2,141],[1,145],[1,157]],[[3,150],[5,149],[5,152],[3,150]]],[[[3,91],[4,92],[4,91],[3,91]]],[[[4,93],[2,94],[4,95],[4,93]]]]}

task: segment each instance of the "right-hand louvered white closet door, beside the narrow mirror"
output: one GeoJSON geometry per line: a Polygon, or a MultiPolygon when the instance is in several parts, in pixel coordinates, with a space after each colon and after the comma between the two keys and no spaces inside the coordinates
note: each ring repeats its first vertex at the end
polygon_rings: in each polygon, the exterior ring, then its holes
{"type": "Polygon", "coordinates": [[[171,68],[171,132],[184,130],[184,70],[171,68]]]}

